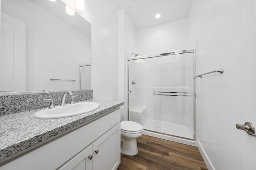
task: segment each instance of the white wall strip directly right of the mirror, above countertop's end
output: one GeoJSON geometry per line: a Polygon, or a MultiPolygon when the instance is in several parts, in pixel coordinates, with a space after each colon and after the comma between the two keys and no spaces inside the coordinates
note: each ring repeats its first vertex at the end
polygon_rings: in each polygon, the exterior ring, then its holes
{"type": "Polygon", "coordinates": [[[118,11],[111,0],[85,0],[83,15],[92,24],[93,98],[118,100],[118,11]]]}

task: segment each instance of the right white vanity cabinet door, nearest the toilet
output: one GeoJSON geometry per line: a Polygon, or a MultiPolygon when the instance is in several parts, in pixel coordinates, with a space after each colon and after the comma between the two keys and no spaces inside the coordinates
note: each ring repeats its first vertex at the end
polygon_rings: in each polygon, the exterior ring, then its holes
{"type": "Polygon", "coordinates": [[[120,123],[92,143],[92,169],[116,170],[120,164],[120,123]]]}

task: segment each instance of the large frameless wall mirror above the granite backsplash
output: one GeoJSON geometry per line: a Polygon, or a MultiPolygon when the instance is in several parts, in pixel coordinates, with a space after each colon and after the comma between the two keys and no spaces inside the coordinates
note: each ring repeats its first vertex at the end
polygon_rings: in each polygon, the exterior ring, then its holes
{"type": "Polygon", "coordinates": [[[91,63],[91,25],[67,14],[64,2],[1,0],[0,30],[1,93],[80,88],[80,66],[91,63]]]}

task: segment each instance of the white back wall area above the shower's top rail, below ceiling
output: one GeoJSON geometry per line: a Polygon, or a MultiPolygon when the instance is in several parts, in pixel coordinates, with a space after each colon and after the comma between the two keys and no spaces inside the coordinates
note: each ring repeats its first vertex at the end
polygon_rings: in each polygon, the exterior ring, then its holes
{"type": "Polygon", "coordinates": [[[136,31],[136,51],[152,55],[188,49],[188,19],[136,31]]]}

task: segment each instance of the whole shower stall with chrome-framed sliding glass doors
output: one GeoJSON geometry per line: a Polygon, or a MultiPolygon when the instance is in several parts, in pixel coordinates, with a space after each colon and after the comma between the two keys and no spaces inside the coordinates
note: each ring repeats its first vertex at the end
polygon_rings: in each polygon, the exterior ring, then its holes
{"type": "Polygon", "coordinates": [[[129,120],[148,133],[194,141],[194,76],[195,50],[128,58],[129,120]]]}

